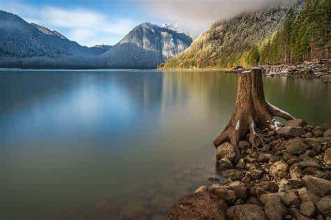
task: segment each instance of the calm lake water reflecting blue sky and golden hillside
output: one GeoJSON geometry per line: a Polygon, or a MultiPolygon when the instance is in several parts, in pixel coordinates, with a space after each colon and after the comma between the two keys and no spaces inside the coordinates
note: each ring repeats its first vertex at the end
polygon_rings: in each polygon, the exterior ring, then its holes
{"type": "MultiPolygon", "coordinates": [[[[267,101],[331,122],[331,85],[265,78],[267,101]]],[[[0,71],[0,219],[163,219],[214,170],[237,76],[0,71]]]]}

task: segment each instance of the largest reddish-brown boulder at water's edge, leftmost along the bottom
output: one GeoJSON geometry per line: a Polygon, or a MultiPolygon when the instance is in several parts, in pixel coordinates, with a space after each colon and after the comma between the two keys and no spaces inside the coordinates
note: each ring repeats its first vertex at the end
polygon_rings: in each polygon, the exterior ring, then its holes
{"type": "Polygon", "coordinates": [[[194,193],[184,196],[169,212],[167,219],[226,219],[226,202],[212,193],[194,193]]]}

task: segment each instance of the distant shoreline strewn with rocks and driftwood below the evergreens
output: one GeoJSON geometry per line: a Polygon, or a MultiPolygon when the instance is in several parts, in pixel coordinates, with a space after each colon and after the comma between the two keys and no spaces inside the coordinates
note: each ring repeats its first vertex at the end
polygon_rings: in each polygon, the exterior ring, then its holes
{"type": "MultiPolygon", "coordinates": [[[[263,74],[270,77],[288,78],[322,78],[325,83],[331,83],[331,59],[316,59],[304,61],[302,64],[277,64],[259,66],[263,74]]],[[[241,73],[249,68],[237,66],[230,72],[241,73]]]]}

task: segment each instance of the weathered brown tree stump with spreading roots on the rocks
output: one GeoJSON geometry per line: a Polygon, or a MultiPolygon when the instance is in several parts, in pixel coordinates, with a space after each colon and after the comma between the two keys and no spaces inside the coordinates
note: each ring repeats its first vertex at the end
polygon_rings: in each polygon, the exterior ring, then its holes
{"type": "Polygon", "coordinates": [[[235,147],[236,160],[240,159],[242,155],[238,148],[239,140],[250,133],[249,141],[253,147],[256,147],[258,139],[263,143],[263,136],[256,133],[256,128],[260,131],[265,128],[277,130],[281,123],[273,118],[275,116],[286,120],[294,119],[284,110],[265,101],[261,68],[242,72],[238,78],[235,111],[221,134],[214,140],[214,146],[217,148],[230,140],[235,147]]]}

